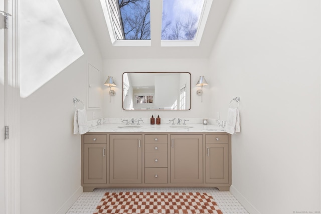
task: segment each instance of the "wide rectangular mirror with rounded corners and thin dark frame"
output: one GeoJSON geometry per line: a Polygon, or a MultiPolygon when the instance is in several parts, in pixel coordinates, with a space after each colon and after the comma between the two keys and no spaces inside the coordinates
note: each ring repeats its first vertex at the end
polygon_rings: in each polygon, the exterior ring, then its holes
{"type": "Polygon", "coordinates": [[[190,110],[188,72],[127,72],[122,75],[124,110],[190,110]]]}

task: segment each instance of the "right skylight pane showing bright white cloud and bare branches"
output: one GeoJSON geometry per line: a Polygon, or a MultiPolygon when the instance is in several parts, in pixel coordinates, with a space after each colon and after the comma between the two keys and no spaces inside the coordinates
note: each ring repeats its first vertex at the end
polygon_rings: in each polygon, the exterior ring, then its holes
{"type": "Polygon", "coordinates": [[[194,41],[205,0],[163,0],[162,40],[194,41]]]}

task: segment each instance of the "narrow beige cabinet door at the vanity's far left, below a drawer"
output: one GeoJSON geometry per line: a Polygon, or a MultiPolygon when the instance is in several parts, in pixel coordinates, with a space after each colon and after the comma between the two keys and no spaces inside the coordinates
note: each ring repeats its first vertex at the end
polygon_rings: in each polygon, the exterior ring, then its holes
{"type": "Polygon", "coordinates": [[[84,183],[107,182],[107,144],[84,144],[84,183]]]}

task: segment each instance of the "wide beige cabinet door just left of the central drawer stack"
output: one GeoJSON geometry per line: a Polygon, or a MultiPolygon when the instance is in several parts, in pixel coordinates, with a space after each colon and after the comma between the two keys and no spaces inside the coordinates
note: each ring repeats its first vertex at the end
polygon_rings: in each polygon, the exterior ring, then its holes
{"type": "Polygon", "coordinates": [[[110,135],[110,183],[141,183],[142,135],[110,135]]]}

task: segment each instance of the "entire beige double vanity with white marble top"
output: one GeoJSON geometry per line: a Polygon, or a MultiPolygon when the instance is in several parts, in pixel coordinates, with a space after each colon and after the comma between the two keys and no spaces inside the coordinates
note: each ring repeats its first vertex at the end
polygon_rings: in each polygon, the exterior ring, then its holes
{"type": "Polygon", "coordinates": [[[81,135],[81,185],[216,187],[231,185],[231,135],[214,125],[107,123],[81,135]]]}

